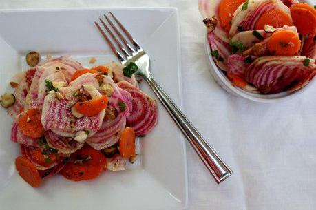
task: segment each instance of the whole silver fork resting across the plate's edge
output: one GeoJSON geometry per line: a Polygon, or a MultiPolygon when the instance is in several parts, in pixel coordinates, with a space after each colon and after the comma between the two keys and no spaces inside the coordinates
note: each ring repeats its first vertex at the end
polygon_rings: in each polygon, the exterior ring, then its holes
{"type": "Polygon", "coordinates": [[[206,140],[204,140],[204,138],[196,130],[196,128],[193,127],[193,125],[189,122],[185,115],[173,103],[171,98],[169,98],[165,91],[162,90],[160,85],[158,85],[154,77],[151,75],[151,72],[149,72],[148,54],[145,52],[145,50],[143,50],[143,48],[140,47],[137,41],[133,39],[131,34],[129,34],[129,32],[120,23],[120,21],[116,19],[114,14],[112,14],[112,12],[109,13],[129,41],[125,39],[125,36],[121,34],[118,28],[116,28],[116,26],[106,15],[104,15],[104,17],[112,30],[114,30],[116,35],[114,35],[114,33],[109,29],[103,19],[100,19],[101,24],[103,25],[107,33],[112,37],[118,48],[114,45],[114,43],[112,43],[107,34],[105,34],[105,32],[100,27],[100,25],[96,22],[94,23],[103,35],[105,41],[107,41],[107,43],[109,44],[109,47],[112,49],[118,60],[120,60],[120,63],[122,63],[123,65],[126,65],[130,62],[136,63],[136,65],[139,67],[136,74],[143,76],[151,89],[154,90],[162,105],[165,106],[167,112],[169,112],[183,134],[185,134],[193,149],[197,152],[198,156],[200,156],[200,159],[202,160],[202,162],[204,162],[204,165],[207,167],[207,169],[209,169],[213,178],[215,178],[215,181],[219,184],[220,182],[225,180],[227,177],[233,174],[233,171],[231,171],[231,169],[222,161],[218,154],[215,153],[215,151],[209,146],[206,140]],[[120,41],[118,39],[120,39],[120,41]]]}

